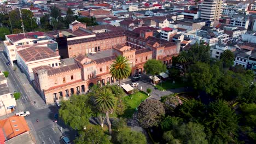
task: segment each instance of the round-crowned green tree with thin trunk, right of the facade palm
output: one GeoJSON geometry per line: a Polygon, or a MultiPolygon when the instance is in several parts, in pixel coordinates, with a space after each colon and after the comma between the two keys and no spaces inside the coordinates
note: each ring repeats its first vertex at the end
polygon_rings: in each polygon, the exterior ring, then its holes
{"type": "Polygon", "coordinates": [[[160,60],[150,59],[144,64],[144,70],[147,74],[153,75],[153,83],[155,83],[155,75],[159,75],[162,72],[166,71],[166,65],[163,64],[160,60]]]}

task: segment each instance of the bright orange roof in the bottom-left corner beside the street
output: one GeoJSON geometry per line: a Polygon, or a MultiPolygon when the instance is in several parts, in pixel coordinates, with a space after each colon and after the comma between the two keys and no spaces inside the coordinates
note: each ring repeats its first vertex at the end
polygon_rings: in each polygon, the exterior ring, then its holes
{"type": "Polygon", "coordinates": [[[30,130],[25,118],[20,116],[11,116],[1,119],[0,128],[3,129],[7,140],[30,130]]]}

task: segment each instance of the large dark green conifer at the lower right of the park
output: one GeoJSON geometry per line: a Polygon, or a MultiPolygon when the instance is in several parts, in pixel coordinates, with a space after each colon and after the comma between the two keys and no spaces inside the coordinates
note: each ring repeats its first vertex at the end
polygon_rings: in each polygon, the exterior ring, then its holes
{"type": "Polygon", "coordinates": [[[235,112],[230,109],[226,101],[218,100],[210,103],[203,121],[209,140],[234,143],[238,128],[237,119],[235,112]]]}

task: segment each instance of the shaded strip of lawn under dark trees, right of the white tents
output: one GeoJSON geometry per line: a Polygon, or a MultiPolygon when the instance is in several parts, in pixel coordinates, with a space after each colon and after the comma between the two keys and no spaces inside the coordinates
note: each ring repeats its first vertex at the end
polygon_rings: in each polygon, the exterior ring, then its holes
{"type": "Polygon", "coordinates": [[[163,90],[165,91],[167,89],[174,89],[174,88],[185,87],[185,86],[187,86],[187,85],[184,82],[176,81],[175,83],[172,83],[172,81],[170,81],[170,80],[156,85],[156,87],[159,89],[159,91],[163,91],[163,90]]]}

